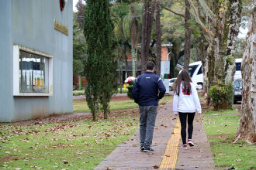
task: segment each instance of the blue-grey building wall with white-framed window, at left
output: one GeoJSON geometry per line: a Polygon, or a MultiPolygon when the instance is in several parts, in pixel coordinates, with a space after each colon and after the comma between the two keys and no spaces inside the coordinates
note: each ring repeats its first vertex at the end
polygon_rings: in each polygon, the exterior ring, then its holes
{"type": "Polygon", "coordinates": [[[0,122],[73,111],[72,0],[0,0],[0,122]]]}

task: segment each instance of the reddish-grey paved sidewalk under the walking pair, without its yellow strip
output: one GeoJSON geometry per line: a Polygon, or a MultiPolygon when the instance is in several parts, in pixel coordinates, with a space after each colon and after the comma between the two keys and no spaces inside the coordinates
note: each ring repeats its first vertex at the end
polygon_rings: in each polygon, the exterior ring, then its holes
{"type": "MultiPolygon", "coordinates": [[[[177,118],[172,110],[172,103],[158,107],[156,127],[154,129],[154,139],[152,148],[154,152],[144,153],[140,151],[139,131],[128,141],[118,145],[112,153],[105,158],[95,169],[157,169],[160,168],[164,152],[173,133],[177,118]]],[[[182,149],[181,141],[175,144],[178,148],[176,169],[213,169],[213,158],[209,148],[209,143],[204,133],[200,117],[195,117],[193,141],[194,148],[182,149]]],[[[177,127],[176,127],[177,128],[177,127]]],[[[175,153],[175,152],[174,152],[175,153]]],[[[169,155],[168,155],[169,156],[169,155]]]]}

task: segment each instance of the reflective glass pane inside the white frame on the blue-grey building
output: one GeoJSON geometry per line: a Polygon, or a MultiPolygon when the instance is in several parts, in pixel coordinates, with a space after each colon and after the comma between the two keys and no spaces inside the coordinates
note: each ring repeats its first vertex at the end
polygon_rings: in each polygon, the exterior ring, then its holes
{"type": "Polygon", "coordinates": [[[49,92],[49,59],[19,50],[19,92],[49,92]]]}

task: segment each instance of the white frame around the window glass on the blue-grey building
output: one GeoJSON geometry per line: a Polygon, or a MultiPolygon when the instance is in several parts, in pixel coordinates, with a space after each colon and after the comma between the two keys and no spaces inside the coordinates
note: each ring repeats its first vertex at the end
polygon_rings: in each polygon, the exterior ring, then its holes
{"type": "Polygon", "coordinates": [[[13,96],[23,96],[23,97],[49,97],[49,96],[53,96],[53,56],[46,54],[46,53],[42,53],[40,51],[36,51],[34,49],[29,49],[23,46],[19,46],[19,45],[13,45],[13,96]],[[46,57],[48,59],[49,62],[49,77],[48,77],[48,81],[49,81],[49,85],[48,85],[48,93],[34,93],[34,92],[29,92],[29,93],[24,93],[24,92],[19,92],[19,51],[22,50],[26,53],[33,53],[36,54],[38,56],[43,56],[46,57]]]}

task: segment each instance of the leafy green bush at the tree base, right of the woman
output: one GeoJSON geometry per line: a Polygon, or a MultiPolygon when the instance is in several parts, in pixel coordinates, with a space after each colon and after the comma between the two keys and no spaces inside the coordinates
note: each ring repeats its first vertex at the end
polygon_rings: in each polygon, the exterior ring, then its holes
{"type": "Polygon", "coordinates": [[[209,95],[213,99],[214,110],[231,109],[233,104],[232,83],[218,84],[210,87],[209,95]]]}

